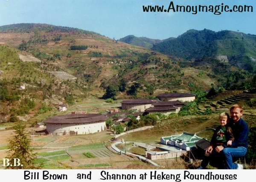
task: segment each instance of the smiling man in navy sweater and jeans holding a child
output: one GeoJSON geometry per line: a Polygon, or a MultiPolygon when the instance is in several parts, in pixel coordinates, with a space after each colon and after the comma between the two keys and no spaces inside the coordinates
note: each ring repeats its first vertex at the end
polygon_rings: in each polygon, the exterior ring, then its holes
{"type": "Polygon", "coordinates": [[[217,146],[216,152],[222,153],[225,161],[226,169],[242,169],[243,165],[233,163],[233,158],[245,156],[248,146],[248,124],[241,118],[243,115],[243,108],[238,104],[230,108],[231,121],[229,126],[232,128],[235,140],[231,146],[217,146]]]}

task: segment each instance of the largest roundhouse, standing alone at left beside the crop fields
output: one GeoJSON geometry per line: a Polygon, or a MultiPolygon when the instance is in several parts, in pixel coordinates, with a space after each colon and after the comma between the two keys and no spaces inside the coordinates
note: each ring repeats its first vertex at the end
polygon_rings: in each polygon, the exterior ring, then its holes
{"type": "Polygon", "coordinates": [[[51,135],[79,135],[105,130],[107,116],[101,114],[67,114],[52,116],[44,123],[51,135]]]}

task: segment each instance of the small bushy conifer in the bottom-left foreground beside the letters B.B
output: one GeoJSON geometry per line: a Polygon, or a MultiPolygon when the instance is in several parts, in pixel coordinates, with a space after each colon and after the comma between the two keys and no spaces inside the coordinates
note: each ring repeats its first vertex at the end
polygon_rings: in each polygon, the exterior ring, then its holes
{"type": "Polygon", "coordinates": [[[14,126],[14,134],[9,139],[8,144],[8,155],[7,159],[10,160],[10,164],[14,163],[14,159],[20,159],[19,166],[8,166],[11,169],[33,169],[35,168],[33,160],[36,158],[35,153],[33,153],[30,148],[31,139],[28,133],[25,131],[25,125],[20,122],[14,126]]]}

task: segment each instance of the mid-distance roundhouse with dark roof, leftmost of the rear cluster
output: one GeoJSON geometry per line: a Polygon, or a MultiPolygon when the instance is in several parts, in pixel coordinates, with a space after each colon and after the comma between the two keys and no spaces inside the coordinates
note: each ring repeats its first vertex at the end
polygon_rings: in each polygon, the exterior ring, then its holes
{"type": "Polygon", "coordinates": [[[157,102],[157,100],[152,99],[128,99],[121,102],[123,110],[137,110],[139,112],[144,112],[152,104],[157,102]]]}

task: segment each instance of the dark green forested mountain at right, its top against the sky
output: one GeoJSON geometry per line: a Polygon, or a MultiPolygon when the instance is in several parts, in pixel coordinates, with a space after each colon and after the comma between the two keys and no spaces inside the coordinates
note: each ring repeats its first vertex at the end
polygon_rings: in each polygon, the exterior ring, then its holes
{"type": "Polygon", "coordinates": [[[185,59],[212,57],[256,72],[256,35],[242,32],[189,30],[175,39],[156,43],[152,50],[185,59]]]}

